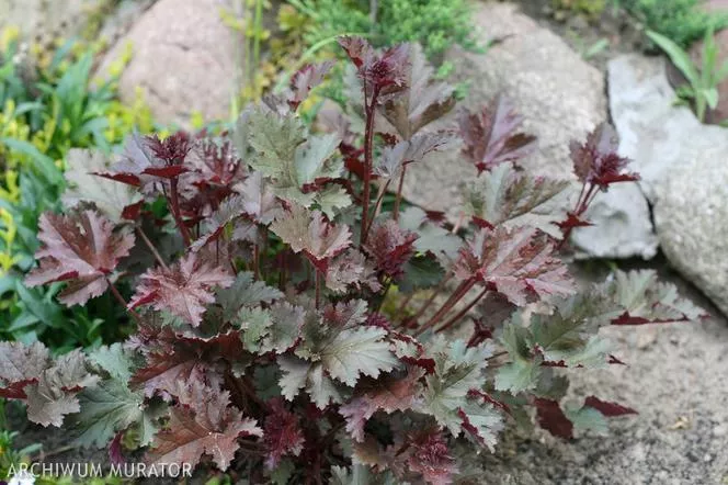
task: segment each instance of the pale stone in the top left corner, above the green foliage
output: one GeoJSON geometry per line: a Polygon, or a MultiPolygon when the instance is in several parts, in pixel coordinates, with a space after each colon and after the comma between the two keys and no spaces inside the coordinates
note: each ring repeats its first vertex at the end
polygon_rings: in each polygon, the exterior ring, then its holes
{"type": "Polygon", "coordinates": [[[81,33],[90,13],[105,0],[0,0],[0,31],[20,29],[24,38],[49,43],[81,33]]]}

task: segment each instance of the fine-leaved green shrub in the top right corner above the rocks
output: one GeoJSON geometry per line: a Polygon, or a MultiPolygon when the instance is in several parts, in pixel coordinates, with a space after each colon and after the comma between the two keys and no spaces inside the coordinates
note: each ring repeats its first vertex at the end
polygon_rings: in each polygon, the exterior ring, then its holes
{"type": "Polygon", "coordinates": [[[715,30],[728,26],[728,15],[707,13],[698,0],[619,0],[622,5],[645,26],[686,48],[702,38],[713,24],[715,30]]]}

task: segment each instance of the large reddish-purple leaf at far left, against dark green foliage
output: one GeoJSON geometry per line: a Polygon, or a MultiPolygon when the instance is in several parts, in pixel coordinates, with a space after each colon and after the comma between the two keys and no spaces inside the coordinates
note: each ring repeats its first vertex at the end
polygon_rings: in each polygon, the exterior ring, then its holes
{"type": "Polygon", "coordinates": [[[68,282],[58,294],[66,306],[82,305],[106,291],[106,277],[134,246],[128,227],[114,232],[114,225],[95,211],[68,216],[46,212],[41,216],[38,239],[39,266],[27,274],[25,284],[68,282]]]}

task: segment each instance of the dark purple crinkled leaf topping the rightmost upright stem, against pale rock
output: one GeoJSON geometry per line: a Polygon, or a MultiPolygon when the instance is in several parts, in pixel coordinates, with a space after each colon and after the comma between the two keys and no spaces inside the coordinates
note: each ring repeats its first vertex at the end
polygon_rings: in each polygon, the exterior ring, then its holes
{"type": "Polygon", "coordinates": [[[639,180],[635,172],[625,172],[628,158],[619,157],[619,140],[612,125],[603,123],[587,137],[584,144],[572,142],[573,171],[583,183],[605,191],[612,183],[639,180]]]}

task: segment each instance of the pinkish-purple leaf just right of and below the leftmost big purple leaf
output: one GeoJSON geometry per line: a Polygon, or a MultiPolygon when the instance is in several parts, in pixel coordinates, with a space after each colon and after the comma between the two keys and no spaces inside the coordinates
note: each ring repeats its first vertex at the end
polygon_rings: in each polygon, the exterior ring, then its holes
{"type": "Polygon", "coordinates": [[[150,304],[197,326],[205,313],[205,304],[215,302],[212,290],[227,287],[234,281],[226,270],[206,263],[196,252],[191,252],[170,268],[155,268],[144,273],[129,308],[150,304]]]}

